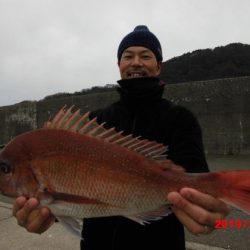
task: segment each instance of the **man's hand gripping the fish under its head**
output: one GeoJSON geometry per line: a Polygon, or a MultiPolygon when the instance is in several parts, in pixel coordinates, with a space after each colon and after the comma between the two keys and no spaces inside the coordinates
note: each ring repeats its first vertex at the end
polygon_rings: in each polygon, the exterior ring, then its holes
{"type": "Polygon", "coordinates": [[[38,207],[37,199],[21,196],[13,206],[13,215],[17,218],[17,223],[28,232],[42,234],[55,222],[55,217],[48,208],[38,207]]]}

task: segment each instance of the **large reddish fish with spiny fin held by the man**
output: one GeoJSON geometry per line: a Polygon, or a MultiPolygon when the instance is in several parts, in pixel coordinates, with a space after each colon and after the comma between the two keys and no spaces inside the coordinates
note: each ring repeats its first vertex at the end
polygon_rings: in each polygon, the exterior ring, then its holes
{"type": "Polygon", "coordinates": [[[187,173],[167,146],[123,135],[64,106],[0,152],[0,194],[35,197],[80,235],[83,218],[124,216],[142,225],[171,213],[167,194],[197,189],[250,213],[250,170],[187,173]]]}

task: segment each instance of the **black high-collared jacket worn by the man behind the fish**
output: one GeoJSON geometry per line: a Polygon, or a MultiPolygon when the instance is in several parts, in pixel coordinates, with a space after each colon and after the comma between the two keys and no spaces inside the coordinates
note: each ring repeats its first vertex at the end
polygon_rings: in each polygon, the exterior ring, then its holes
{"type": "MultiPolygon", "coordinates": [[[[120,100],[95,111],[98,123],[168,146],[168,158],[188,172],[205,172],[201,129],[187,109],[162,99],[158,78],[121,80],[120,100]]],[[[171,214],[142,226],[123,217],[85,219],[84,250],[185,249],[183,226],[171,214]]]]}

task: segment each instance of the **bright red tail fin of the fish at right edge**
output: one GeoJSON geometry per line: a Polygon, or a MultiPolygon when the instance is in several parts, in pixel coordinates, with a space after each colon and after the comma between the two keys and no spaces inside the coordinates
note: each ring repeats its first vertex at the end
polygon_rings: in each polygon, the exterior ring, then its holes
{"type": "Polygon", "coordinates": [[[222,200],[250,214],[250,170],[224,171],[214,174],[218,177],[222,200]]]}

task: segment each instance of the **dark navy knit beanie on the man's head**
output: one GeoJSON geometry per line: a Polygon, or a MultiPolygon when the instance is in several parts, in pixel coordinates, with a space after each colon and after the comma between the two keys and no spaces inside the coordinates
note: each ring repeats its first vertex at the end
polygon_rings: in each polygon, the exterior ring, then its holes
{"type": "Polygon", "coordinates": [[[121,60],[123,51],[131,46],[142,46],[150,49],[158,62],[163,59],[159,40],[145,25],[136,26],[133,32],[122,39],[117,52],[118,61],[121,60]]]}

